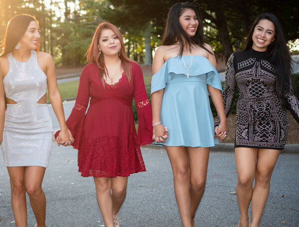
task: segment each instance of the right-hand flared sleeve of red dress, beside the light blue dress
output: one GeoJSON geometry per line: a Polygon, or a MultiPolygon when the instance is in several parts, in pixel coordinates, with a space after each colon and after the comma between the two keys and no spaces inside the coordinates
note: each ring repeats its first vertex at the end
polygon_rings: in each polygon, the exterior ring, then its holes
{"type": "Polygon", "coordinates": [[[152,142],[151,106],[146,92],[142,70],[138,64],[132,64],[132,74],[134,74],[133,98],[138,114],[137,143],[139,145],[146,145],[152,142]]]}

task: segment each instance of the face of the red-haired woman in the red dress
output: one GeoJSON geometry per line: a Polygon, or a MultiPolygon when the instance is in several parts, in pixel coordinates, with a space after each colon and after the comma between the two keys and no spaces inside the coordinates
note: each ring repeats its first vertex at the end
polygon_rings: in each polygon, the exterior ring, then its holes
{"type": "Polygon", "coordinates": [[[104,29],[99,39],[99,50],[104,55],[114,56],[121,51],[121,42],[118,36],[111,29],[104,29]]]}

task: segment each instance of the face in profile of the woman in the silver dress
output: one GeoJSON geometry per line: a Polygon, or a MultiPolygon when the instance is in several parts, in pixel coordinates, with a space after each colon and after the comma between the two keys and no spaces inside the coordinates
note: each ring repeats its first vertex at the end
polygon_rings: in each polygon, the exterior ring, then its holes
{"type": "Polygon", "coordinates": [[[33,20],[29,23],[29,26],[19,43],[21,44],[21,48],[35,50],[37,48],[39,38],[39,27],[37,22],[33,20]]]}

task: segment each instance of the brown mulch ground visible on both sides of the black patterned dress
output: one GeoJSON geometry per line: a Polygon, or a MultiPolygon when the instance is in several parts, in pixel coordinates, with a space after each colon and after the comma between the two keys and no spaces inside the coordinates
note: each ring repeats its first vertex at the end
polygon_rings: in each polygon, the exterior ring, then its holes
{"type": "MultiPolygon", "coordinates": [[[[236,135],[236,114],[229,114],[227,118],[229,133],[225,140],[226,143],[235,143],[236,135]]],[[[286,141],[287,144],[299,143],[299,126],[292,114],[289,113],[289,134],[286,141]]]]}

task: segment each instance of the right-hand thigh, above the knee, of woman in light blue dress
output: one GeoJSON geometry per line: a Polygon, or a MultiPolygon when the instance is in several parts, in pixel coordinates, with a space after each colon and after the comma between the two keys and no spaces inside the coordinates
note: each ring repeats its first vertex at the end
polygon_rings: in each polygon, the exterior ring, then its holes
{"type": "Polygon", "coordinates": [[[187,147],[191,178],[205,178],[207,175],[210,148],[187,147]]]}

